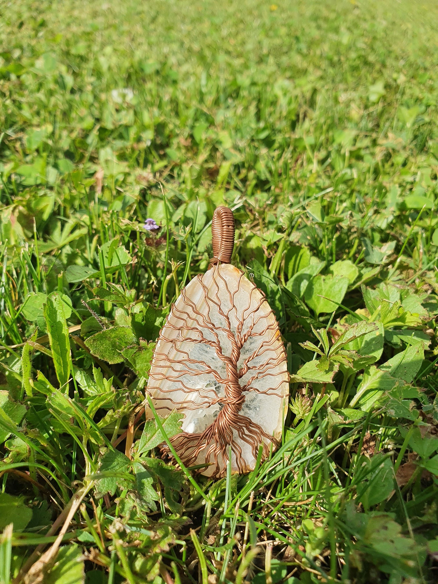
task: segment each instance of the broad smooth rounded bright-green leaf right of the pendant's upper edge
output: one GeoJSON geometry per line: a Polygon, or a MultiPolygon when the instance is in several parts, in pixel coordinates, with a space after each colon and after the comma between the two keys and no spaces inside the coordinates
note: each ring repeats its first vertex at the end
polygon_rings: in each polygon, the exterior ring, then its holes
{"type": "Polygon", "coordinates": [[[304,300],[317,316],[322,312],[333,312],[337,310],[338,304],[342,304],[348,284],[347,278],[318,274],[307,286],[304,300]]]}

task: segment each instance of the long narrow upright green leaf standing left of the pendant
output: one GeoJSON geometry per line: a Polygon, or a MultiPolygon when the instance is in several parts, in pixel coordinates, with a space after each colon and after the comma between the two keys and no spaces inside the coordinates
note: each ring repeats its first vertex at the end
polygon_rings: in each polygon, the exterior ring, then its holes
{"type": "Polygon", "coordinates": [[[64,303],[58,292],[53,292],[47,297],[47,303],[44,304],[44,319],[46,319],[56,376],[62,387],[70,377],[71,356],[64,303]]]}

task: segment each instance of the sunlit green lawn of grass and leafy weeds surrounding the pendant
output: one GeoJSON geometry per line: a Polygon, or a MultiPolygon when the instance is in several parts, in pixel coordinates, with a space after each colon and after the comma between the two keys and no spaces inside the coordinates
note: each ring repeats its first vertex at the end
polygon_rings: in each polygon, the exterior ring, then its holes
{"type": "Polygon", "coordinates": [[[437,16],[0,2],[1,582],[436,582],[437,16]],[[219,204],[292,377],[281,447],[212,482],[141,404],[219,204]]]}

